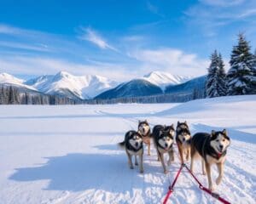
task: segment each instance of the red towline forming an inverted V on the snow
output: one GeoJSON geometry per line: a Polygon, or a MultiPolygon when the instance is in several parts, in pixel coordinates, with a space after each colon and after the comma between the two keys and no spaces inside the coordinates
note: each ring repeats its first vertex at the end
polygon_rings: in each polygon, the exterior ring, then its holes
{"type": "Polygon", "coordinates": [[[168,198],[170,197],[170,195],[172,195],[173,187],[174,187],[174,185],[176,184],[177,178],[178,178],[179,174],[181,173],[183,167],[185,167],[185,168],[189,171],[189,173],[191,174],[191,176],[192,176],[193,178],[195,178],[195,181],[197,182],[197,184],[199,184],[199,188],[200,188],[201,190],[204,190],[205,192],[207,192],[207,194],[212,195],[212,197],[216,198],[218,201],[221,201],[221,202],[224,203],[224,204],[231,204],[229,201],[226,201],[226,200],[224,200],[224,198],[220,197],[217,193],[214,193],[214,192],[212,192],[212,190],[209,190],[209,189],[207,189],[206,187],[204,187],[204,186],[201,184],[201,182],[195,177],[195,174],[190,171],[189,167],[188,167],[185,163],[183,163],[183,164],[181,165],[181,167],[179,168],[179,170],[178,170],[178,172],[177,172],[177,175],[176,175],[174,181],[172,182],[172,185],[169,186],[169,190],[168,190],[168,192],[167,192],[167,194],[166,194],[166,197],[165,197],[165,200],[164,200],[163,204],[166,204],[166,202],[168,201],[168,198]]]}

